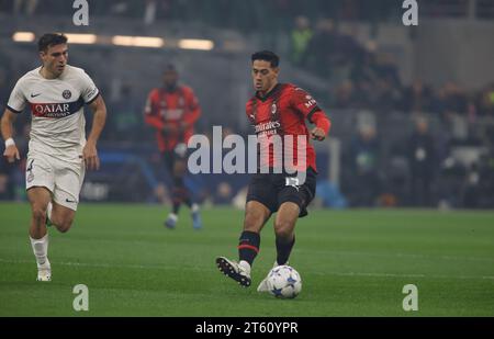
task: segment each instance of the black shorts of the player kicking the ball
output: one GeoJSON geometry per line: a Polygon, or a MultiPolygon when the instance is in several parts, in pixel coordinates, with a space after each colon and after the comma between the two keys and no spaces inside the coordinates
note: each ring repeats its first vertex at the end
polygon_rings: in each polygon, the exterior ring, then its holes
{"type": "Polygon", "coordinates": [[[302,185],[295,185],[296,181],[290,178],[296,178],[295,174],[285,173],[256,173],[250,179],[247,202],[257,201],[274,213],[282,203],[292,202],[299,205],[299,217],[308,214],[307,206],[315,196],[317,173],[308,168],[305,182],[302,185]],[[288,179],[287,179],[288,178],[288,179]]]}

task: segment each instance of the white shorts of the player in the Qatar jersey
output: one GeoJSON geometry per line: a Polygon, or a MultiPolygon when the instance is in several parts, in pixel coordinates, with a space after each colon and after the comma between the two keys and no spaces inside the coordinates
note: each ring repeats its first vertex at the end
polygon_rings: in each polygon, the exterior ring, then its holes
{"type": "Polygon", "coordinates": [[[45,154],[30,152],[25,169],[25,189],[46,188],[52,192],[54,202],[77,211],[85,173],[82,159],[64,161],[45,154]]]}

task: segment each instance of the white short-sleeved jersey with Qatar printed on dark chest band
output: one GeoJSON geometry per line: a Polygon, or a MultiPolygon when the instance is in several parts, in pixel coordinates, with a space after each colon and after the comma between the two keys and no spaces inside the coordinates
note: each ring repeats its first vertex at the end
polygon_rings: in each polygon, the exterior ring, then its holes
{"type": "Polygon", "coordinates": [[[67,65],[56,79],[45,79],[41,67],[19,79],[8,109],[32,113],[30,152],[58,157],[79,156],[86,145],[83,105],[98,98],[99,90],[81,68],[67,65]]]}

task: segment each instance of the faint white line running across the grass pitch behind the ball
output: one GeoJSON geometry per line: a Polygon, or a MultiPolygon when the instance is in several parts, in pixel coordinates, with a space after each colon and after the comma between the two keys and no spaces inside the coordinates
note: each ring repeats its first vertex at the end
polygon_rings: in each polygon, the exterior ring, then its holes
{"type": "MultiPolygon", "coordinates": [[[[33,260],[8,260],[0,258],[0,262],[4,263],[32,263],[33,260]]],[[[68,267],[88,267],[88,268],[102,268],[102,269],[138,269],[138,270],[167,270],[166,265],[158,264],[115,264],[115,263],[89,263],[89,262],[70,262],[52,261],[55,265],[68,265],[68,267]]],[[[211,271],[213,269],[203,267],[182,267],[181,270],[190,271],[211,271]]],[[[339,275],[339,276],[373,276],[373,278],[433,278],[433,279],[460,279],[460,280],[494,280],[494,275],[444,275],[444,274],[414,274],[414,273],[380,273],[380,272],[312,272],[316,275],[339,275]]]]}

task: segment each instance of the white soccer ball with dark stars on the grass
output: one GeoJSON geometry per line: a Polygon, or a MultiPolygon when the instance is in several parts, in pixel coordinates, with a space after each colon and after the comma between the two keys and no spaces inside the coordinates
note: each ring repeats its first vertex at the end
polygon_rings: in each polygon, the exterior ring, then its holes
{"type": "Polygon", "coordinates": [[[302,291],[302,279],[294,268],[279,265],[268,275],[269,292],[279,298],[294,298],[302,291]]]}

